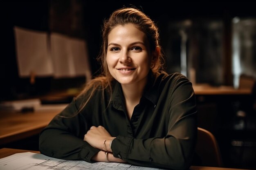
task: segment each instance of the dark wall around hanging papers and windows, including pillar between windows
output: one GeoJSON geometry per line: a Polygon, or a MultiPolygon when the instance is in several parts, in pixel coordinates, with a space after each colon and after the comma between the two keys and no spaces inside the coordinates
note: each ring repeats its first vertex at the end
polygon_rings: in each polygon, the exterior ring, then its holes
{"type": "MultiPolygon", "coordinates": [[[[168,23],[184,19],[191,20],[223,20],[225,25],[224,41],[224,80],[221,85],[232,85],[231,74],[231,18],[255,17],[256,10],[251,1],[99,1],[99,0],[10,0],[1,2],[2,50],[0,62],[1,83],[0,100],[11,100],[44,94],[52,90],[77,87],[83,84],[83,78],[54,79],[52,77],[37,78],[31,86],[29,78],[19,78],[16,63],[13,26],[39,31],[59,32],[66,35],[84,38],[88,42],[88,53],[92,73],[97,75],[99,64],[96,57],[101,45],[101,25],[112,11],[126,6],[142,9],[154,20],[160,30],[160,44],[168,49],[168,23]],[[81,9],[70,7],[76,4],[81,9]],[[74,23],[74,19],[79,22],[74,23]],[[71,25],[76,25],[71,28],[71,25]],[[61,83],[59,83],[61,82],[61,83]],[[65,83],[62,83],[65,82],[65,83]],[[61,87],[59,84],[65,84],[61,87]]],[[[178,46],[179,48],[179,46],[178,46]]],[[[199,61],[198,61],[199,62],[199,61]]],[[[205,65],[201,63],[201,65],[205,65]]],[[[211,82],[210,82],[211,83],[211,82]]],[[[218,84],[220,85],[220,84],[218,84]]]]}

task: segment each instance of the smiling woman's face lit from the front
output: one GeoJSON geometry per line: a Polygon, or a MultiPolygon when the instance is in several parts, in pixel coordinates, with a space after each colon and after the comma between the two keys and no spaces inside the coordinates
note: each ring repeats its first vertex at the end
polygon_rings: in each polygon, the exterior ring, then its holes
{"type": "Polygon", "coordinates": [[[146,34],[133,24],[118,25],[108,35],[110,74],[122,85],[146,84],[152,53],[146,34]]]}

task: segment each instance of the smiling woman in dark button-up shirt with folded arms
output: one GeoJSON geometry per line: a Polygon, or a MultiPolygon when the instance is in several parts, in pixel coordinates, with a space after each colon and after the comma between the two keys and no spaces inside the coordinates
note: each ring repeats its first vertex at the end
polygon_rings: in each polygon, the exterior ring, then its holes
{"type": "Polygon", "coordinates": [[[103,25],[102,75],[40,133],[40,152],[88,162],[189,168],[197,137],[191,82],[163,71],[158,28],[134,8],[103,25]]]}

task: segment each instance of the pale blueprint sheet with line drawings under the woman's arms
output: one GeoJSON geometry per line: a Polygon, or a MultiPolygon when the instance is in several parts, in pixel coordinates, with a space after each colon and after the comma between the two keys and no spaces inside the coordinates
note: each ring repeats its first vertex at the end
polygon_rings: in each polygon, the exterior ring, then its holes
{"type": "Polygon", "coordinates": [[[43,154],[23,152],[0,159],[0,170],[161,170],[127,163],[67,161],[43,154]]]}

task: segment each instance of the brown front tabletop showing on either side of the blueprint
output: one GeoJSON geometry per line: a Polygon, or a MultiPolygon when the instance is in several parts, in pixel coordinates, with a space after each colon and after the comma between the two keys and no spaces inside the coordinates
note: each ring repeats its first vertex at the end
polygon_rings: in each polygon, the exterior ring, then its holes
{"type": "MultiPolygon", "coordinates": [[[[39,151],[31,151],[31,150],[19,150],[19,149],[10,149],[10,148],[2,148],[0,149],[0,158],[4,158],[15,153],[21,152],[34,152],[40,153],[39,151]]],[[[216,167],[206,167],[206,166],[191,166],[189,170],[245,170],[245,169],[235,169],[235,168],[216,168],[216,167]]]]}

